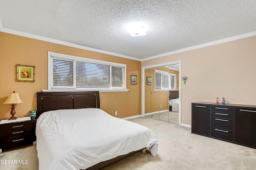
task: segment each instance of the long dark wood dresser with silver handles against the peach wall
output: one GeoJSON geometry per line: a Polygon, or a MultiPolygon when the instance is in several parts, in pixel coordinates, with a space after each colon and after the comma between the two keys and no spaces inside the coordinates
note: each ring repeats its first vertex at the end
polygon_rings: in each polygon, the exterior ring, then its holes
{"type": "Polygon", "coordinates": [[[191,132],[256,149],[256,106],[194,102],[191,132]]]}

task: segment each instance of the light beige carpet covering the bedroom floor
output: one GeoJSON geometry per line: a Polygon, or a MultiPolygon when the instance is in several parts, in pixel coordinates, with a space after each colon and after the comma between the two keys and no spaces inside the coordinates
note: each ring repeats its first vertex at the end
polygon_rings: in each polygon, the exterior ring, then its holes
{"type": "MultiPolygon", "coordinates": [[[[159,140],[158,154],[133,154],[104,170],[255,170],[256,149],[191,134],[191,129],[146,117],[129,121],[150,128],[159,140]]],[[[0,164],[1,170],[37,170],[36,146],[5,150],[2,160],[28,164],[0,164]]],[[[47,155],[46,155],[47,156],[47,155]]]]}

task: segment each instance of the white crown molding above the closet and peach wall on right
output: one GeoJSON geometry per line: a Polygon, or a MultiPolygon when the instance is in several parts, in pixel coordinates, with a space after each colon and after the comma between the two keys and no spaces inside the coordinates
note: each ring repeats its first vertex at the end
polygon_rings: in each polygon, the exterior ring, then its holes
{"type": "Polygon", "coordinates": [[[234,36],[234,37],[229,37],[229,38],[220,39],[220,40],[217,40],[217,41],[212,41],[210,43],[204,43],[204,44],[188,47],[188,48],[185,48],[185,49],[180,49],[180,50],[171,51],[171,52],[160,54],[160,55],[155,55],[155,56],[152,56],[152,57],[147,57],[145,59],[141,59],[141,61],[147,61],[147,60],[151,60],[151,59],[164,57],[164,56],[167,56],[167,55],[173,55],[173,54],[182,53],[182,52],[185,52],[185,51],[200,49],[200,48],[203,48],[203,47],[208,47],[208,46],[211,46],[211,45],[226,43],[226,42],[229,42],[229,41],[234,41],[234,40],[237,40],[237,39],[252,37],[252,36],[255,36],[255,35],[256,35],[256,31],[250,32],[250,33],[245,33],[245,34],[237,35],[237,36],[234,36]]]}

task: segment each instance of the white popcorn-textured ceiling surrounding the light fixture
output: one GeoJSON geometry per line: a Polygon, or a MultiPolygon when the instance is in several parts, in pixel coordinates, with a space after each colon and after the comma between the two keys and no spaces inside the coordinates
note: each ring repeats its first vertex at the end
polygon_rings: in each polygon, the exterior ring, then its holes
{"type": "Polygon", "coordinates": [[[7,29],[145,59],[256,31],[256,0],[0,0],[7,29]],[[131,37],[140,21],[147,35],[131,37]]]}

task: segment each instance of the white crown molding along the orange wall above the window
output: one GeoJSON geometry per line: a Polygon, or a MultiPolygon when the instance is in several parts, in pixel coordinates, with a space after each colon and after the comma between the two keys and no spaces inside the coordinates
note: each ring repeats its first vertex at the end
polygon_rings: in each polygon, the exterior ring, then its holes
{"type": "Polygon", "coordinates": [[[91,48],[91,47],[86,47],[86,46],[82,46],[82,45],[68,43],[68,42],[65,42],[65,41],[60,41],[60,40],[56,40],[56,39],[42,37],[42,36],[39,36],[39,35],[34,35],[34,34],[30,34],[30,33],[24,33],[24,32],[21,32],[21,31],[16,31],[16,30],[13,30],[13,29],[4,28],[4,27],[1,27],[1,23],[0,23],[0,31],[4,32],[4,33],[19,35],[19,36],[22,36],[22,37],[28,37],[28,38],[32,38],[32,39],[38,39],[38,40],[41,40],[41,41],[47,41],[47,42],[50,42],[50,43],[56,43],[56,44],[60,44],[60,45],[66,45],[66,46],[69,46],[69,47],[75,47],[75,48],[78,48],[78,49],[84,49],[84,50],[88,50],[88,51],[94,51],[94,52],[97,52],[97,53],[103,53],[103,54],[107,54],[107,55],[113,55],[113,56],[116,56],[116,57],[122,57],[122,58],[126,58],[126,59],[141,61],[141,59],[138,59],[138,58],[135,58],[135,57],[130,57],[130,56],[127,56],[127,55],[112,53],[110,51],[94,49],[94,48],[91,48]]]}

